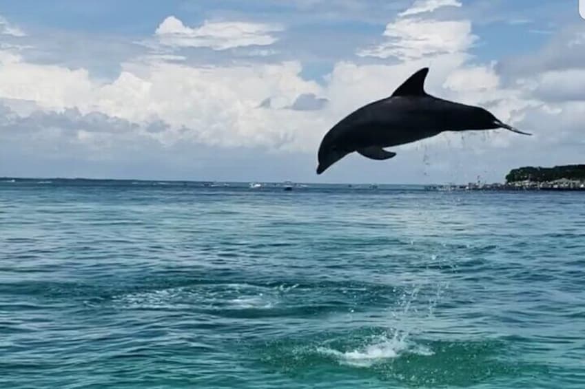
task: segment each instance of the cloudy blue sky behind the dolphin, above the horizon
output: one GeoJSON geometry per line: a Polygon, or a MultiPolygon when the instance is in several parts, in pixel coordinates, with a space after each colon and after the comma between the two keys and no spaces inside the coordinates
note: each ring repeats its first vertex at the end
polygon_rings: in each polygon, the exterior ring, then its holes
{"type": "Polygon", "coordinates": [[[0,0],[0,176],[502,182],[585,163],[584,118],[577,0],[0,0]],[[533,136],[447,132],[317,176],[322,136],[421,67],[533,136]]]}

